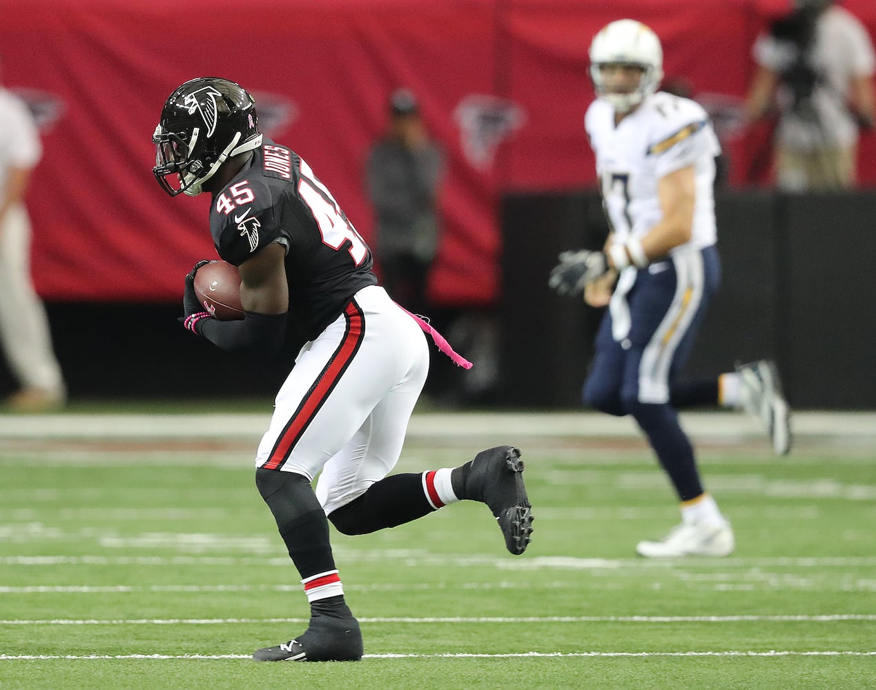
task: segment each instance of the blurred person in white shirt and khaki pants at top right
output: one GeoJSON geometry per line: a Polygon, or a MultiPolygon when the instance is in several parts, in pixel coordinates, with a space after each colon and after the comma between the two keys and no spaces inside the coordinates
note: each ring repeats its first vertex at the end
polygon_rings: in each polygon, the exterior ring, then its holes
{"type": "Polygon", "coordinates": [[[776,116],[776,183],[789,192],[855,187],[858,130],[873,126],[873,46],[830,0],[796,0],[754,44],[750,122],[776,116]]]}

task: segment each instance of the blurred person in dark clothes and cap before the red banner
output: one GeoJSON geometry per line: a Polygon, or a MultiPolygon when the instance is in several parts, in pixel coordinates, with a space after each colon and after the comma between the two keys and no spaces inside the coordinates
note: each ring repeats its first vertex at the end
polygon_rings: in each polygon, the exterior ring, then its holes
{"type": "Polygon", "coordinates": [[[427,314],[428,277],[438,249],[444,153],[429,137],[413,92],[394,91],[389,129],[371,145],[365,188],[376,217],[381,284],[413,313],[427,314]]]}

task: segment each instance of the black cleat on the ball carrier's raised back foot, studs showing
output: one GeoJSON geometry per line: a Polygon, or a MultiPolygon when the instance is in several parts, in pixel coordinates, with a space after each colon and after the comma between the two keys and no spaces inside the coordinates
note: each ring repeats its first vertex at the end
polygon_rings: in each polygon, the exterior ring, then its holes
{"type": "Polygon", "coordinates": [[[533,506],[523,485],[520,451],[511,446],[484,450],[471,461],[465,479],[466,497],[486,503],[505,535],[508,551],[519,555],[533,532],[533,506]]]}

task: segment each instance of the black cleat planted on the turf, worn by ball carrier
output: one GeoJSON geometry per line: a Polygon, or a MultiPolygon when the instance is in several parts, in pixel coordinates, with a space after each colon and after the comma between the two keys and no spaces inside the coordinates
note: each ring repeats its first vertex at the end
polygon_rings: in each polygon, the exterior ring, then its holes
{"type": "Polygon", "coordinates": [[[256,661],[358,661],[362,658],[362,632],[353,616],[315,613],[304,634],[276,647],[253,653],[256,661]]]}

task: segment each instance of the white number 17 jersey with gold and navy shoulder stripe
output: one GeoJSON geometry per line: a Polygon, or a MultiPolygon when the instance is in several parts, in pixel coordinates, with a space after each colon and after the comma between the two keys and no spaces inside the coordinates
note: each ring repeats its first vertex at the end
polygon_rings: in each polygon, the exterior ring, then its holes
{"type": "Polygon", "coordinates": [[[658,91],[615,125],[614,108],[600,98],[587,109],[584,127],[596,154],[605,209],[618,240],[644,236],[660,222],[658,181],[693,165],[693,236],[682,247],[702,249],[715,243],[713,185],[715,157],[721,146],[702,106],[658,91]]]}

